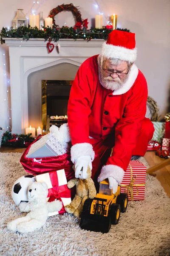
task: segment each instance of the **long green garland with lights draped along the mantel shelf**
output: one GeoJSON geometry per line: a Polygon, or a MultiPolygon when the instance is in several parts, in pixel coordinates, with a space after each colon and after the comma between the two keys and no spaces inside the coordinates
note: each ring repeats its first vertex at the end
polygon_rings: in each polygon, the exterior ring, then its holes
{"type": "MultiPolygon", "coordinates": [[[[126,32],[130,32],[129,29],[117,29],[126,32]]],[[[17,29],[14,28],[4,28],[0,31],[0,41],[1,44],[5,43],[3,38],[23,38],[23,40],[29,40],[29,38],[44,38],[47,41],[51,38],[51,41],[58,41],[60,38],[71,38],[74,40],[85,39],[90,41],[91,39],[104,39],[107,40],[108,34],[112,29],[74,29],[73,27],[62,26],[62,28],[51,29],[49,27],[44,27],[44,30],[39,30],[37,27],[25,27],[21,26],[17,29]]]]}

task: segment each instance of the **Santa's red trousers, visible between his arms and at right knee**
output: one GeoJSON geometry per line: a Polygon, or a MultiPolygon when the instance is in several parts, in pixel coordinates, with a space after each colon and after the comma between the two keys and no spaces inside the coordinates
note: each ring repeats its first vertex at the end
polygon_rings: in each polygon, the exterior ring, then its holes
{"type": "MultiPolygon", "coordinates": [[[[153,123],[150,121],[149,118],[144,118],[141,131],[137,138],[136,148],[133,149],[132,155],[144,156],[145,152],[147,151],[148,142],[153,137],[153,132],[153,123]]],[[[107,140],[91,139],[90,143],[93,145],[95,153],[99,155],[101,164],[104,165],[108,160],[108,157],[111,155],[111,148],[114,146],[114,140],[110,137],[107,140]]],[[[96,161],[94,160],[92,164],[93,178],[93,176],[97,176],[99,174],[96,174],[96,161]]]]}

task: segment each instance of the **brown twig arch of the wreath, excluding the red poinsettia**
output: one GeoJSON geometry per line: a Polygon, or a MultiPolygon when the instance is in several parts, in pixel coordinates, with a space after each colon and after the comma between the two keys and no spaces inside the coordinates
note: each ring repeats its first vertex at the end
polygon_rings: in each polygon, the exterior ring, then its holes
{"type": "MultiPolygon", "coordinates": [[[[68,12],[72,12],[72,14],[74,15],[74,18],[76,20],[77,23],[81,23],[82,24],[82,15],[79,12],[79,10],[77,9],[77,7],[75,7],[72,3],[70,4],[62,4],[60,6],[57,6],[56,8],[52,9],[50,12],[50,15],[48,17],[51,17],[53,19],[53,28],[56,28],[57,25],[55,23],[55,19],[54,17],[59,13],[59,12],[63,12],[63,11],[68,11],[68,12]]],[[[83,24],[82,24],[83,25],[83,24]]]]}

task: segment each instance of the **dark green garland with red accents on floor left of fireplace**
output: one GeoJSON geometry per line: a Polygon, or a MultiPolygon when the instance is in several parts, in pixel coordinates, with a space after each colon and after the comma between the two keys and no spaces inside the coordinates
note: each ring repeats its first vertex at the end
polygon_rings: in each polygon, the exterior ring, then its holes
{"type": "Polygon", "coordinates": [[[1,145],[13,148],[26,148],[34,140],[31,134],[11,134],[11,132],[6,131],[3,134],[1,145]]]}

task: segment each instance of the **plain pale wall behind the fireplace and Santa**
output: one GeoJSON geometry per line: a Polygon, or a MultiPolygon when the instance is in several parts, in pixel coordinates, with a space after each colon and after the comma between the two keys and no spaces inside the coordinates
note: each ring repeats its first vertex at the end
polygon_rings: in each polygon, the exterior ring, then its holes
{"type": "MultiPolygon", "coordinates": [[[[51,9],[62,4],[62,0],[39,0],[34,9],[43,12],[43,17],[48,17],[51,9]]],[[[65,4],[71,3],[65,0],[65,4]]],[[[130,29],[136,33],[136,46],[138,58],[136,65],[144,73],[148,83],[148,93],[160,107],[160,118],[170,111],[170,1],[169,0],[74,0],[72,3],[80,7],[82,18],[88,18],[89,27],[95,14],[104,13],[103,25],[107,16],[112,13],[118,15],[118,27],[130,29]],[[96,7],[98,3],[99,7],[96,7]]],[[[24,9],[28,17],[33,5],[33,0],[6,0],[0,8],[0,28],[12,25],[17,9],[24,9]]],[[[59,26],[74,26],[71,12],[59,13],[56,16],[59,26]]],[[[10,117],[10,83],[8,67],[8,48],[0,46],[0,126],[7,128],[10,117]],[[6,54],[5,56],[3,54],[6,54]],[[6,64],[5,66],[3,64],[6,64]],[[7,71],[6,71],[7,66],[7,71]],[[4,75],[6,73],[6,75],[4,75]],[[8,90],[8,93],[7,93],[8,90]],[[8,101],[4,101],[8,94],[8,101]]]]}

